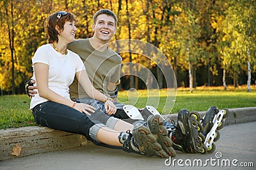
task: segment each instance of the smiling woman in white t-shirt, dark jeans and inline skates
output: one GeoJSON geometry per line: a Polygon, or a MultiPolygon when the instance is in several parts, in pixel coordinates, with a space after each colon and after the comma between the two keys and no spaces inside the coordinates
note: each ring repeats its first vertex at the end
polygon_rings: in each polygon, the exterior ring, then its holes
{"type": "Polygon", "coordinates": [[[68,87],[76,76],[88,96],[104,102],[107,112],[116,111],[111,98],[93,88],[79,55],[67,50],[68,43],[75,40],[76,21],[77,18],[66,11],[52,13],[45,20],[48,44],[40,46],[32,59],[33,79],[36,80],[38,92],[31,99],[30,108],[36,123],[82,134],[95,143],[122,146],[126,152],[172,156],[170,139],[166,142],[168,146],[163,142],[157,143],[166,137],[160,133],[163,129],[159,117],[148,120],[154,125],[155,134],[156,130],[159,131],[155,137],[148,127],[139,124],[134,127],[113,117],[105,119],[106,115],[93,106],[70,100],[68,87]]]}

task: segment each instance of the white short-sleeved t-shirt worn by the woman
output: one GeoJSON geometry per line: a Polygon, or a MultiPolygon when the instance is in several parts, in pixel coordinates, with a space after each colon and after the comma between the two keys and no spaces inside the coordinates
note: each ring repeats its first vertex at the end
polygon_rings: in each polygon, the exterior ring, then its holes
{"type": "MultiPolygon", "coordinates": [[[[70,50],[68,50],[67,55],[62,55],[56,52],[50,44],[47,44],[40,46],[36,50],[32,58],[32,64],[36,62],[41,62],[49,66],[49,89],[62,97],[70,99],[69,86],[74,81],[75,74],[85,69],[79,55],[70,50]]],[[[35,72],[33,73],[33,79],[36,80],[35,72]]],[[[40,97],[37,93],[35,97],[31,99],[30,108],[32,109],[37,104],[44,103],[45,101],[48,100],[40,97]]]]}

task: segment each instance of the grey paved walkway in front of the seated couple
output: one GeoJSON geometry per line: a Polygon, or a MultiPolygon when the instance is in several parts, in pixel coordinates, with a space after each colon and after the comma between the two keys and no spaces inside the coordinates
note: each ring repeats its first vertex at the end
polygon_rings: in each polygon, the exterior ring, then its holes
{"type": "Polygon", "coordinates": [[[190,163],[190,169],[205,169],[205,164],[207,169],[255,169],[255,127],[256,122],[224,127],[220,131],[221,138],[216,143],[217,148],[214,153],[178,152],[176,157],[166,160],[88,145],[59,152],[3,160],[0,161],[0,169],[184,169],[184,167],[189,167],[190,163]],[[200,161],[202,161],[202,166],[200,161]],[[242,167],[243,165],[251,167],[242,167]]]}

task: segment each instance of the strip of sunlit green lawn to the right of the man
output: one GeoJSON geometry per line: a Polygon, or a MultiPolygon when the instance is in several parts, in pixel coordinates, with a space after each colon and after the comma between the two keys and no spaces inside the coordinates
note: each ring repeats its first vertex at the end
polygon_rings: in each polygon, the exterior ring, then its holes
{"type": "MultiPolygon", "coordinates": [[[[145,107],[145,103],[147,103],[147,90],[138,90],[139,99],[135,104],[138,108],[145,107]]],[[[244,89],[239,90],[218,90],[218,89],[196,89],[191,92],[189,89],[178,89],[177,96],[175,98],[175,103],[166,103],[166,89],[160,90],[159,99],[156,97],[156,103],[158,104],[148,104],[153,105],[157,108],[157,110],[162,113],[163,108],[166,105],[172,105],[173,108],[171,112],[164,112],[163,114],[169,113],[178,113],[178,111],[182,108],[186,108],[188,110],[196,110],[196,111],[206,111],[211,106],[217,106],[218,108],[245,108],[245,107],[255,107],[256,106],[256,90],[252,90],[252,92],[248,93],[244,89]]],[[[120,101],[127,101],[127,104],[134,104],[136,99],[129,99],[127,97],[127,92],[119,93],[120,101]],[[131,102],[129,102],[131,101],[131,102]]],[[[136,97],[135,97],[136,98],[136,97]]],[[[152,98],[152,97],[151,97],[152,98]]],[[[170,106],[171,107],[171,106],[170,106]]]]}

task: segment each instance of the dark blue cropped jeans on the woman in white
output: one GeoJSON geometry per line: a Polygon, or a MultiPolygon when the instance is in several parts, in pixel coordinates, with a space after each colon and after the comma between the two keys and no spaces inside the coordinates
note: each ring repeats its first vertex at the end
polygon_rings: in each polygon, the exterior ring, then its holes
{"type": "Polygon", "coordinates": [[[92,120],[86,114],[69,106],[52,101],[35,106],[33,115],[36,124],[51,129],[82,134],[90,140],[92,140],[89,136],[90,127],[101,123],[98,120],[92,120]]]}

